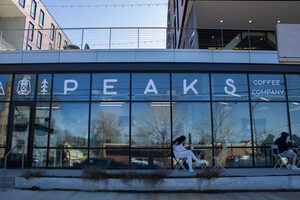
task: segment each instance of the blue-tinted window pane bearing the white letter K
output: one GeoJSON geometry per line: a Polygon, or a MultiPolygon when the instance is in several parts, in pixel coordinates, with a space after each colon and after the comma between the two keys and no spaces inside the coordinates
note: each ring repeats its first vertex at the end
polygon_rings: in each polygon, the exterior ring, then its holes
{"type": "Polygon", "coordinates": [[[172,74],[173,100],[209,100],[208,74],[172,74]]]}

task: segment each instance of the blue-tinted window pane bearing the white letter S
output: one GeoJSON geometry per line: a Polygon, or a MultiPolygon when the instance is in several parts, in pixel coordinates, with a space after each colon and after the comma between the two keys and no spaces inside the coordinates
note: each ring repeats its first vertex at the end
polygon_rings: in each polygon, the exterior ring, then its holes
{"type": "Polygon", "coordinates": [[[247,100],[248,84],[246,74],[212,74],[213,100],[247,100]]]}

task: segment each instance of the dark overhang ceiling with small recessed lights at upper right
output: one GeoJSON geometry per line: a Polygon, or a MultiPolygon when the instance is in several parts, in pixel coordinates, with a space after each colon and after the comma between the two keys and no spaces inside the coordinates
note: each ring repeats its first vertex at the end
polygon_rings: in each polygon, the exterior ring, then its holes
{"type": "Polygon", "coordinates": [[[300,24],[300,1],[196,1],[195,4],[199,28],[273,30],[278,20],[300,24]]]}

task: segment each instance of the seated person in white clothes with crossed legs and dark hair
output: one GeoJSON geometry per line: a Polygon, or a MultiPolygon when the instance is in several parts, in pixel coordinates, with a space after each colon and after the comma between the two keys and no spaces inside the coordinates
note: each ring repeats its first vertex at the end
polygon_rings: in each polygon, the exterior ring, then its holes
{"type": "Polygon", "coordinates": [[[203,161],[199,160],[191,150],[187,150],[183,144],[186,137],[184,135],[176,138],[173,142],[173,153],[175,158],[187,158],[189,172],[193,172],[192,160],[198,164],[204,164],[203,161]]]}

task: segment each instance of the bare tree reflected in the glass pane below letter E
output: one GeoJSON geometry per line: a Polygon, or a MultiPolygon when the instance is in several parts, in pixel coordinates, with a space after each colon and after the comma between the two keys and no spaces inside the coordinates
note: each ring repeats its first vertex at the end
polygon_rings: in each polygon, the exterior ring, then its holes
{"type": "Polygon", "coordinates": [[[123,121],[112,112],[99,110],[97,117],[92,121],[92,133],[96,139],[97,146],[105,143],[122,143],[123,121]]]}

